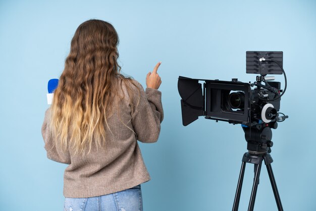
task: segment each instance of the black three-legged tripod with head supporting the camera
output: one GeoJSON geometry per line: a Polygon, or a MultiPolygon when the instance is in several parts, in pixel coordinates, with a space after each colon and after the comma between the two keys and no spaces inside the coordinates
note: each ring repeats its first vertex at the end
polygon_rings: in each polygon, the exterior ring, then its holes
{"type": "Polygon", "coordinates": [[[270,127],[274,129],[277,128],[277,123],[274,125],[256,125],[256,127],[251,128],[244,126],[243,130],[245,132],[245,138],[247,141],[247,149],[246,152],[242,157],[242,165],[240,169],[238,185],[233,205],[233,211],[238,211],[239,200],[240,200],[240,193],[242,188],[242,182],[245,173],[246,163],[254,164],[254,179],[252,185],[252,191],[248,206],[248,211],[252,211],[254,207],[255,196],[257,193],[257,188],[259,184],[259,176],[262,166],[262,161],[265,161],[265,165],[267,166],[271,186],[273,189],[274,197],[277,202],[278,210],[283,211],[279,191],[277,188],[277,183],[273,175],[271,163],[273,159],[269,152],[271,152],[271,148],[273,146],[273,142],[271,141],[272,138],[272,131],[270,127]]]}

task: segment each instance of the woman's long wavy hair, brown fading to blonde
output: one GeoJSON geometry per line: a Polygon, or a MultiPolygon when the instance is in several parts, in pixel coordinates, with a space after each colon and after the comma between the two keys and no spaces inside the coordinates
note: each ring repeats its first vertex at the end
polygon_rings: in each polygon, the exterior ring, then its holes
{"type": "MultiPolygon", "coordinates": [[[[120,74],[118,44],[118,34],[108,22],[88,20],[77,28],[50,107],[50,133],[63,150],[71,146],[75,153],[85,154],[93,141],[97,148],[103,146],[107,119],[120,95],[117,79],[136,86],[120,74]]],[[[126,87],[132,96],[132,87],[126,87]]],[[[131,100],[130,105],[133,108],[131,100]]]]}

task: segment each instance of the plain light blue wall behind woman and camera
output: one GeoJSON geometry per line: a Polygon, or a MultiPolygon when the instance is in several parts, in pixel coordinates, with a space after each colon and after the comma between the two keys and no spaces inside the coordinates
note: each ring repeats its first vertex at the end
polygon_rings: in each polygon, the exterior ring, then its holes
{"type": "MultiPolygon", "coordinates": [[[[125,74],[145,86],[159,74],[165,119],[159,141],[140,147],[152,180],[144,210],[231,210],[246,141],[240,125],[181,121],[179,75],[254,81],[246,50],[282,50],[288,89],[273,131],[272,164],[285,210],[316,210],[315,1],[0,1],[0,210],[62,210],[66,165],[46,158],[40,128],[46,86],[58,78],[82,22],[111,22],[125,74]]],[[[284,86],[283,76],[276,76],[284,86]]],[[[247,165],[240,201],[253,180],[247,165]]],[[[262,167],[255,210],[277,210],[262,167]]]]}

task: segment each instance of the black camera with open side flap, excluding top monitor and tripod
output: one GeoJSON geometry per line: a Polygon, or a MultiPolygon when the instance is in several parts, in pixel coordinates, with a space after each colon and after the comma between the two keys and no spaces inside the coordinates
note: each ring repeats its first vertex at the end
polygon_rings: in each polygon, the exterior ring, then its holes
{"type": "MultiPolygon", "coordinates": [[[[270,82],[276,92],[280,82],[270,82]]],[[[179,76],[178,89],[181,96],[182,122],[186,126],[205,116],[206,119],[226,121],[233,124],[254,126],[276,121],[280,99],[267,102],[260,95],[273,98],[275,93],[262,87],[251,89],[251,83],[237,79],[232,81],[191,79],[179,76]],[[199,83],[199,81],[203,81],[199,83]],[[181,92],[190,89],[191,92],[181,92]],[[264,114],[262,114],[264,112],[264,114]],[[263,117],[263,118],[262,118],[263,117]]]]}

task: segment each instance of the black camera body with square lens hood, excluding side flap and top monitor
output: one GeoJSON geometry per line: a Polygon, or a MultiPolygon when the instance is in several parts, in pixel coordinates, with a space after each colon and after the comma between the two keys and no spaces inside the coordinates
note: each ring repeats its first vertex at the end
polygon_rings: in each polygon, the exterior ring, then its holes
{"type": "MultiPolygon", "coordinates": [[[[270,82],[269,84],[280,91],[280,82],[270,82]]],[[[250,83],[242,83],[237,79],[206,81],[204,87],[206,98],[209,99],[205,100],[205,118],[207,119],[253,126],[260,123],[262,119],[266,123],[273,121],[276,116],[269,117],[269,114],[272,112],[273,115],[276,115],[275,112],[280,110],[280,98],[272,102],[259,98],[260,95],[273,98],[274,93],[263,88],[251,89],[250,83]],[[266,112],[264,108],[268,107],[267,104],[274,110],[268,109],[267,112],[270,113],[267,114],[267,117],[264,114],[262,118],[262,111],[266,112]]]]}

